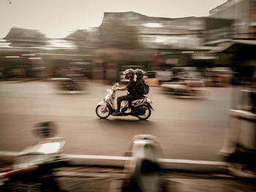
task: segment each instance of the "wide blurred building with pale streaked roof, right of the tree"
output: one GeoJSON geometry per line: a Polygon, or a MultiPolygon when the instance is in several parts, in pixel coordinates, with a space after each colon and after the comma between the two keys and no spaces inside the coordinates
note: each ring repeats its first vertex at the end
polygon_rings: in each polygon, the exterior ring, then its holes
{"type": "Polygon", "coordinates": [[[173,66],[211,66],[215,54],[209,51],[214,44],[207,43],[220,36],[230,38],[233,25],[233,20],[223,18],[156,18],[136,12],[105,12],[102,23],[113,19],[138,28],[140,42],[148,50],[154,50],[150,62],[157,70],[173,66]]]}

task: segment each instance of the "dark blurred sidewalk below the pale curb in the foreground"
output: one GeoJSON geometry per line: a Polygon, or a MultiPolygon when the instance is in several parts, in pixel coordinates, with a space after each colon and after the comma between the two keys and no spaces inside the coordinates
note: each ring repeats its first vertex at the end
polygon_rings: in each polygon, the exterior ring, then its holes
{"type": "MultiPolygon", "coordinates": [[[[123,169],[109,167],[69,167],[56,173],[61,189],[67,191],[120,191],[127,177],[123,169]]],[[[255,180],[240,180],[230,174],[200,172],[163,172],[167,191],[256,191],[255,180]]]]}

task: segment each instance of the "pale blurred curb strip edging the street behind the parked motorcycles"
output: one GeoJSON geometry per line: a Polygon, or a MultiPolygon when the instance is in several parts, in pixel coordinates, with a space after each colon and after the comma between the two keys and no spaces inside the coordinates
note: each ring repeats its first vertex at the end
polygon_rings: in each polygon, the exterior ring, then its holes
{"type": "MultiPolygon", "coordinates": [[[[0,151],[0,158],[12,161],[19,153],[0,151]]],[[[68,160],[69,165],[89,165],[89,166],[116,166],[124,167],[126,161],[131,161],[132,157],[110,156],[110,155],[75,155],[61,154],[61,157],[68,160]]],[[[227,163],[224,161],[197,161],[187,159],[159,158],[159,163],[163,169],[189,171],[189,172],[227,172],[227,163]]]]}

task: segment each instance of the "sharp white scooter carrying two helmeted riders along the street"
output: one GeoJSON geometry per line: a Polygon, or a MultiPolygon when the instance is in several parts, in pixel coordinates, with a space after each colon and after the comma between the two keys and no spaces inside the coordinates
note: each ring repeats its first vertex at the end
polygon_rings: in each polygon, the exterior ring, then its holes
{"type": "MultiPolygon", "coordinates": [[[[108,118],[109,115],[112,115],[116,111],[116,91],[113,91],[117,86],[118,82],[112,86],[112,89],[107,89],[107,95],[97,104],[96,114],[99,118],[108,118]]],[[[117,116],[128,116],[132,115],[137,117],[140,120],[146,120],[151,115],[152,101],[146,96],[143,96],[141,99],[136,99],[132,101],[132,112],[126,112],[128,109],[128,101],[122,101],[121,103],[121,113],[117,116]]]]}

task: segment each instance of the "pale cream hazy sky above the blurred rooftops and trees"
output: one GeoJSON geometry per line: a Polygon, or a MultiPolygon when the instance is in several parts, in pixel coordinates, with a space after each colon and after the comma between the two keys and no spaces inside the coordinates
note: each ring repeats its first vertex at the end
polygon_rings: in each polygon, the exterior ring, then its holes
{"type": "Polygon", "coordinates": [[[104,12],[138,12],[163,18],[208,16],[227,0],[0,0],[0,39],[12,27],[37,29],[63,38],[76,29],[97,27],[104,12]],[[11,4],[9,3],[11,2],[11,4]]]}

